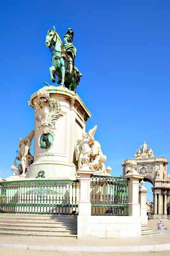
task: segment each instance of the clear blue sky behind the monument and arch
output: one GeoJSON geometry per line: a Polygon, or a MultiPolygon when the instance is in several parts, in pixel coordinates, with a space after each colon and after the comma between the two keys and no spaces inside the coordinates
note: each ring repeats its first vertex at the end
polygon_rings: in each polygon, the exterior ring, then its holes
{"type": "Polygon", "coordinates": [[[76,92],[92,114],[86,131],[97,124],[111,174],[122,175],[144,140],[170,159],[169,0],[1,0],[1,178],[12,175],[18,140],[34,128],[27,101],[51,83],[44,41],[53,25],[61,37],[74,31],[83,74],[76,92]]]}

